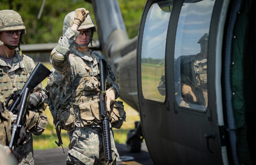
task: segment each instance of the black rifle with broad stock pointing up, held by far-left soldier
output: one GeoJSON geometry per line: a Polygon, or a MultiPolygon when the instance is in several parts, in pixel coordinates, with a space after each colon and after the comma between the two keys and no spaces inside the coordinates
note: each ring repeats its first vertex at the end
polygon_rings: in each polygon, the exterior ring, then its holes
{"type": "Polygon", "coordinates": [[[38,62],[28,80],[26,81],[24,87],[22,88],[20,93],[10,94],[8,99],[6,100],[5,107],[12,112],[13,114],[17,114],[17,106],[20,104],[22,95],[26,88],[29,91],[32,91],[38,84],[40,84],[49,74],[50,70],[47,69],[42,63],[38,62]],[[10,105],[9,102],[12,100],[10,105]]]}

